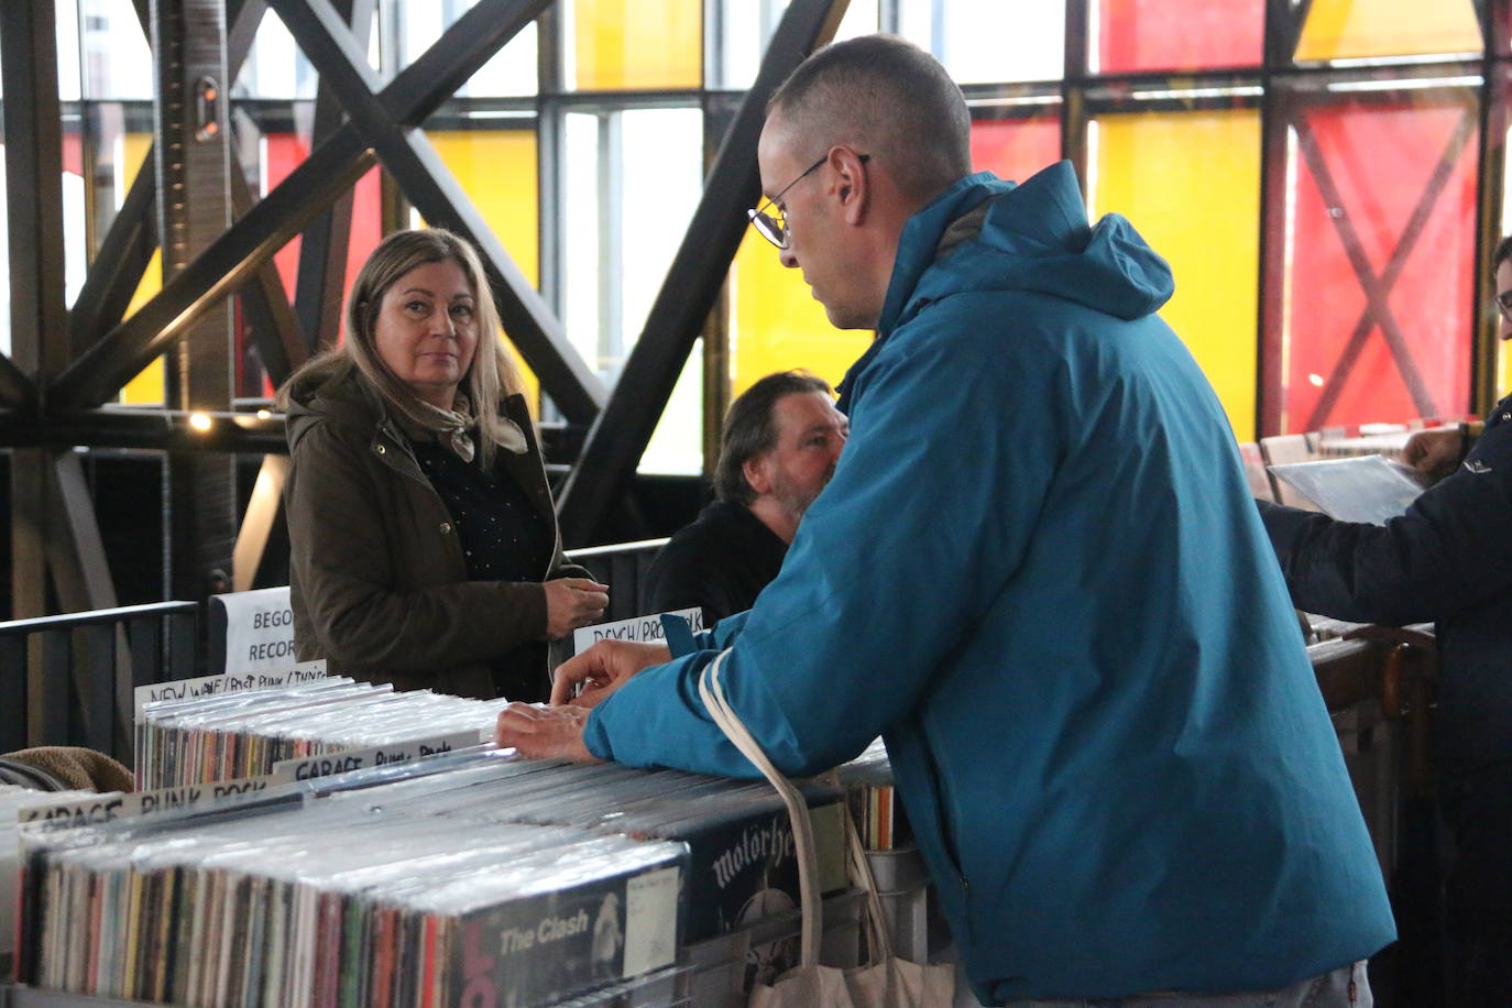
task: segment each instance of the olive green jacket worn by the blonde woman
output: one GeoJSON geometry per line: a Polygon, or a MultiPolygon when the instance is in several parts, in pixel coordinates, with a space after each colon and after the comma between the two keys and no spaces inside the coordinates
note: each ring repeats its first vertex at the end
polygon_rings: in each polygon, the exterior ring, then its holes
{"type": "MultiPolygon", "coordinates": [[[[499,450],[494,465],[555,512],[523,396],[505,411],[529,452],[499,450]]],[[[546,591],[540,582],[467,580],[452,517],[420,472],[410,440],[354,379],[295,388],[289,407],[289,585],[295,653],[333,674],[398,689],[543,700],[546,591]],[[488,659],[528,641],[526,668],[496,688],[488,659]]],[[[556,536],[541,580],[585,577],[564,564],[556,536]]]]}

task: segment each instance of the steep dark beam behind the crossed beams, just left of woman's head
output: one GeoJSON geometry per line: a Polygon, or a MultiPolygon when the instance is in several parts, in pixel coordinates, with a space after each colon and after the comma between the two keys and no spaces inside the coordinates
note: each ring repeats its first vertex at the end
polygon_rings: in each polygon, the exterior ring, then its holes
{"type": "MultiPolygon", "coordinates": [[[[375,0],[336,0],[336,12],[351,26],[352,41],[367,47],[375,0]]],[[[313,142],[319,144],[342,125],[342,103],[321,74],[314,92],[313,142]]],[[[342,292],[346,281],[346,251],[352,237],[352,199],[339,198],[299,236],[299,274],[295,283],[295,314],[304,326],[307,348],[334,346],[342,329],[342,292]]]]}

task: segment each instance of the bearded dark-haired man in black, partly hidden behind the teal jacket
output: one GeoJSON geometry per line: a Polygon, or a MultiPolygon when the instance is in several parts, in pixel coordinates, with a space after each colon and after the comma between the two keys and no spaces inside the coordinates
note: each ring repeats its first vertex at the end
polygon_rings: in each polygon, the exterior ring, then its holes
{"type": "Polygon", "coordinates": [[[750,609],[835,475],[848,429],[829,382],[807,372],[767,375],[742,391],[724,414],[715,500],[646,574],[650,611],[697,606],[714,626],[750,609]]]}

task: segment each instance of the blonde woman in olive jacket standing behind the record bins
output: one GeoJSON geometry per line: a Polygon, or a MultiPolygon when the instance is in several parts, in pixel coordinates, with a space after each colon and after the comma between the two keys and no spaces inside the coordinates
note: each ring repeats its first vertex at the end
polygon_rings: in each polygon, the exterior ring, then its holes
{"type": "Polygon", "coordinates": [[[299,660],[404,689],[543,700],[546,641],[603,612],[605,586],[562,561],[497,331],[473,248],[398,231],[352,284],[345,342],[280,390],[299,660]]]}

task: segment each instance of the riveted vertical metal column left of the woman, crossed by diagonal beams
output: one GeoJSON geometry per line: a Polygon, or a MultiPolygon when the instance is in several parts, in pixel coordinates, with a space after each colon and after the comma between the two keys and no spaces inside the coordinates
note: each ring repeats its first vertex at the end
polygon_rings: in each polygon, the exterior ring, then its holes
{"type": "MultiPolygon", "coordinates": [[[[189,266],[231,227],[231,150],[224,0],[153,0],[157,71],[154,160],[163,281],[189,266]]],[[[168,404],[221,413],[234,387],[233,313],[221,301],[169,352],[168,404]]],[[[168,456],[169,591],[204,598],[228,588],[236,541],[236,468],[231,456],[168,456]]]]}

